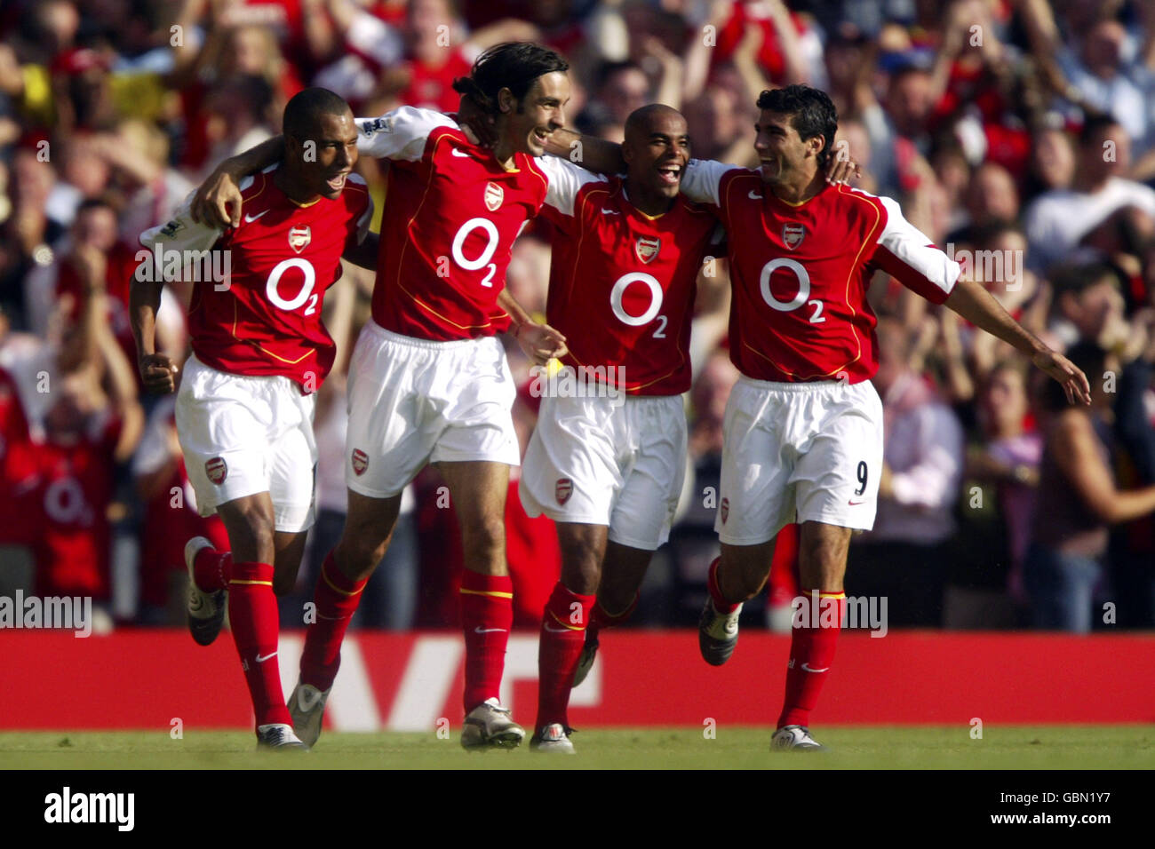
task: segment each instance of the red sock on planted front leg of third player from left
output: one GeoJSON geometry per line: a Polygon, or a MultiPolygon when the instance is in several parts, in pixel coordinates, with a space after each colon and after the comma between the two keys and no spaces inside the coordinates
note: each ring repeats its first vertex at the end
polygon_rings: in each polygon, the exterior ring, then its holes
{"type": "Polygon", "coordinates": [[[558,581],[545,604],[537,650],[537,730],[553,722],[569,728],[569,691],[595,598],[578,595],[558,581]]]}

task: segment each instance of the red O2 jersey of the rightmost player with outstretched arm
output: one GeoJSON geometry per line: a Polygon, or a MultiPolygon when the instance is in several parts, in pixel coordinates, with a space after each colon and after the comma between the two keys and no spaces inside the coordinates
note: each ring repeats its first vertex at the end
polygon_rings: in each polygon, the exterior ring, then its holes
{"type": "Polygon", "coordinates": [[[730,241],[730,357],[755,380],[850,383],[878,371],[875,270],[941,304],[959,263],[902,217],[899,204],[844,185],[792,206],[758,171],[694,161],[681,189],[714,203],[730,241]]]}

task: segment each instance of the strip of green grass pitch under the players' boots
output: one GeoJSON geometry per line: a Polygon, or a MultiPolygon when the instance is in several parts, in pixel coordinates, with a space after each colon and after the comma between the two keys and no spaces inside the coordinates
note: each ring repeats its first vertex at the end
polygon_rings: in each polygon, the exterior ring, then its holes
{"type": "Polygon", "coordinates": [[[465,752],[460,729],[321,735],[307,754],[256,753],[251,733],[0,733],[0,769],[1153,769],[1155,725],[814,728],[829,752],[770,752],[773,729],[579,731],[575,757],[465,752]]]}

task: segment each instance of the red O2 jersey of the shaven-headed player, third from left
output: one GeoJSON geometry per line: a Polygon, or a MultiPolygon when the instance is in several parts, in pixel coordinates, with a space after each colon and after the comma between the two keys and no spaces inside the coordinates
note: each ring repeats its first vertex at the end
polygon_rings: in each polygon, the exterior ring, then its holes
{"type": "Polygon", "coordinates": [[[680,395],[690,388],[694,290],[718,219],[678,195],[649,216],[609,180],[559,161],[567,177],[551,183],[543,208],[557,226],[547,319],[566,337],[567,365],[610,366],[627,393],[680,395]]]}

